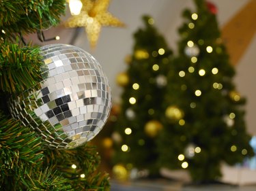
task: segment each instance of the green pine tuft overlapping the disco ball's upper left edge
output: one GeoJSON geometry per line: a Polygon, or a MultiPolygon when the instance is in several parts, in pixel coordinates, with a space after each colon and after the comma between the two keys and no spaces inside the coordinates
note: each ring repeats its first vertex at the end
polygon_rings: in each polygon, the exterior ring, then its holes
{"type": "Polygon", "coordinates": [[[40,48],[30,44],[20,47],[8,41],[0,47],[0,90],[10,94],[21,92],[42,80],[40,48]]]}

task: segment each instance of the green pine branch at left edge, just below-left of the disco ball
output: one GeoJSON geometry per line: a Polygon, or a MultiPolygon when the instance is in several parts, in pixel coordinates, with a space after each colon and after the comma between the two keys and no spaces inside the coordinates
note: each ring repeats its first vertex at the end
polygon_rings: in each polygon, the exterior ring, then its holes
{"type": "Polygon", "coordinates": [[[41,140],[20,122],[0,114],[0,183],[5,190],[16,190],[20,178],[42,162],[41,140]]]}

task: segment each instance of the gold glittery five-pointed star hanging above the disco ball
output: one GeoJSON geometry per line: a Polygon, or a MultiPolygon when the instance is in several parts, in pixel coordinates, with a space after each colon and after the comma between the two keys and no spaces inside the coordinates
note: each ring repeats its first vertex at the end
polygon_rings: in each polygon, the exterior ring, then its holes
{"type": "Polygon", "coordinates": [[[65,26],[70,28],[85,27],[91,48],[95,48],[101,27],[124,27],[124,23],[107,12],[110,0],[81,0],[83,7],[79,15],[69,18],[65,26]]]}

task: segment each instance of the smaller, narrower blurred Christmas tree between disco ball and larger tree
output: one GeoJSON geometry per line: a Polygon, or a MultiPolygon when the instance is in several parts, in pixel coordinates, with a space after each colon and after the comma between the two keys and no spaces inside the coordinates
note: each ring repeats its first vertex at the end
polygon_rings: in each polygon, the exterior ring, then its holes
{"type": "Polygon", "coordinates": [[[143,22],[145,28],[134,33],[128,70],[117,75],[124,91],[112,135],[116,143],[113,161],[128,170],[147,169],[153,176],[158,175],[156,136],[162,129],[158,120],[172,52],[154,27],[153,18],[143,16],[143,22]]]}

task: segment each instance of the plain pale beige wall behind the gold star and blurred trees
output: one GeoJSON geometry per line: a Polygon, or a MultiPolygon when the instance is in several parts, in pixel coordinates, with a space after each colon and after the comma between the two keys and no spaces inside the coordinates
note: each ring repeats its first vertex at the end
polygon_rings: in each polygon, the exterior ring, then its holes
{"type": "MultiPolygon", "coordinates": [[[[218,22],[220,27],[229,21],[232,16],[240,10],[240,8],[248,0],[211,0],[212,3],[218,7],[218,22]]],[[[176,49],[176,42],[179,39],[177,34],[177,27],[182,24],[181,17],[182,10],[186,7],[194,9],[193,0],[112,0],[109,6],[109,12],[116,16],[126,24],[124,28],[102,27],[98,45],[95,50],[89,48],[85,30],[81,28],[79,35],[74,41],[75,46],[79,46],[92,54],[102,65],[106,75],[109,77],[111,88],[113,91],[113,101],[119,100],[119,95],[122,88],[115,83],[117,73],[125,71],[128,67],[124,62],[124,58],[128,54],[132,54],[132,46],[134,39],[132,34],[142,27],[141,16],[149,14],[155,20],[155,25],[158,31],[165,36],[170,48],[176,49]]],[[[63,17],[63,20],[69,17],[63,17]]],[[[61,25],[59,27],[52,27],[45,31],[46,37],[60,36],[59,41],[50,41],[40,43],[35,35],[31,35],[31,39],[38,44],[54,44],[63,43],[70,44],[74,35],[74,29],[65,29],[61,25]]],[[[251,41],[251,45],[246,50],[246,53],[241,58],[240,63],[236,66],[236,84],[240,93],[247,98],[246,105],[246,122],[248,124],[248,131],[256,135],[256,121],[254,109],[256,106],[256,82],[255,71],[255,50],[256,50],[256,35],[251,41]]]]}

